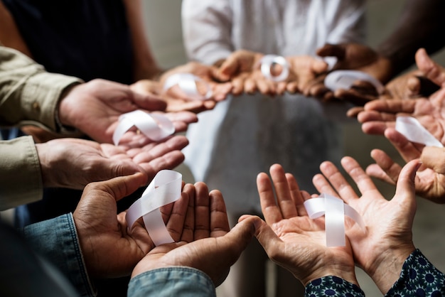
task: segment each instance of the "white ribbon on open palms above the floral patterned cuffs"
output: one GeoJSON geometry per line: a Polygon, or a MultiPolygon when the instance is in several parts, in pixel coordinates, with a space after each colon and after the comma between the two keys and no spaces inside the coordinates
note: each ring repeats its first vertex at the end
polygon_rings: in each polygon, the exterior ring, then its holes
{"type": "Polygon", "coordinates": [[[304,207],[311,219],[325,216],[326,247],[345,246],[345,215],[365,229],[365,223],[358,212],[353,207],[345,204],[340,198],[321,194],[318,198],[306,200],[304,207]]]}

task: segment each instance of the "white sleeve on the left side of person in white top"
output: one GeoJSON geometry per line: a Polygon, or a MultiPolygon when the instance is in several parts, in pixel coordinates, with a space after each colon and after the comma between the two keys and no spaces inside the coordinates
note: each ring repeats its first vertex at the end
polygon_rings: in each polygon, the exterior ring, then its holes
{"type": "Polygon", "coordinates": [[[232,53],[232,11],[227,1],[186,0],[181,13],[189,59],[213,64],[232,53]]]}

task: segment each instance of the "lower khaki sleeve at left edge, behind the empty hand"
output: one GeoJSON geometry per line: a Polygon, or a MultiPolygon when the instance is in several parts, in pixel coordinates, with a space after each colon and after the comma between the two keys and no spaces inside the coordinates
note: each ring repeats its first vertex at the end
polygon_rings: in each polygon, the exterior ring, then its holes
{"type": "Polygon", "coordinates": [[[43,181],[32,136],[0,141],[0,210],[40,200],[43,181]]]}

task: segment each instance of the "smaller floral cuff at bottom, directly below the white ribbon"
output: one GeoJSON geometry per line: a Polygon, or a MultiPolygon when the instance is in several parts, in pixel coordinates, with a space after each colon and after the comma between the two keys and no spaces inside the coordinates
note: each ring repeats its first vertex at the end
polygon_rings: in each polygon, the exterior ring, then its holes
{"type": "Polygon", "coordinates": [[[304,296],[307,297],[362,297],[365,293],[355,284],[351,284],[337,276],[323,276],[314,279],[306,286],[304,296]]]}

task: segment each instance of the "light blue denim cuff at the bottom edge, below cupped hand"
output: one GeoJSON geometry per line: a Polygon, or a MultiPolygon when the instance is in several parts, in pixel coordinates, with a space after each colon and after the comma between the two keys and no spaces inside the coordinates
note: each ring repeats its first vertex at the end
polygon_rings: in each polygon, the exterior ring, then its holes
{"type": "Polygon", "coordinates": [[[215,297],[213,281],[198,269],[175,266],[146,271],[128,286],[128,297],[215,297]]]}

